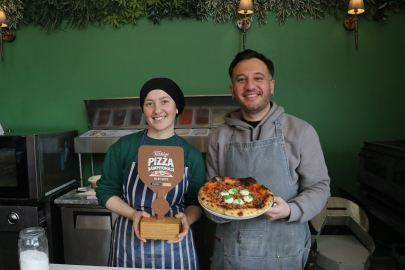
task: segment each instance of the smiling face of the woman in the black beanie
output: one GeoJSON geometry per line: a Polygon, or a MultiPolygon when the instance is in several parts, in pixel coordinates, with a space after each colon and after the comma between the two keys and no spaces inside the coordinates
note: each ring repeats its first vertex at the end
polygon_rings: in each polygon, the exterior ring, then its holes
{"type": "Polygon", "coordinates": [[[148,136],[165,139],[174,135],[178,110],[174,100],[163,90],[153,90],[145,98],[143,113],[149,124],[148,136]]]}

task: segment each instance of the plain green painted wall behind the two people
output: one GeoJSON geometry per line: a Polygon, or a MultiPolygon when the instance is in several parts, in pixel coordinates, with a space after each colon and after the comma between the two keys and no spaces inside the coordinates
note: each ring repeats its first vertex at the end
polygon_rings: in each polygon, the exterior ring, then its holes
{"type": "MultiPolygon", "coordinates": [[[[273,100],[318,131],[332,178],[356,181],[363,141],[404,139],[405,16],[387,21],[360,16],[359,50],[343,18],[279,26],[254,22],[246,48],[275,63],[273,100]],[[401,30],[402,29],[402,30],[401,30]]],[[[45,34],[29,26],[5,43],[0,64],[0,123],[4,129],[87,130],[83,99],[138,96],[152,77],[169,77],[186,95],[229,93],[227,68],[242,49],[231,22],[141,20],[118,30],[87,27],[45,34]]],[[[100,173],[103,155],[96,155],[100,173]]],[[[90,176],[84,157],[84,179],[90,176]]]]}

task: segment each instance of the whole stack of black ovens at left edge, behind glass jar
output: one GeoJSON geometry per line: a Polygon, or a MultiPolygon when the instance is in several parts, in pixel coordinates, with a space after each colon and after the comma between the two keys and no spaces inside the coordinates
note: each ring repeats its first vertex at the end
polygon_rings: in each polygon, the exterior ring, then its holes
{"type": "Polygon", "coordinates": [[[50,262],[63,263],[61,213],[53,201],[77,187],[77,134],[31,131],[0,136],[0,270],[19,269],[18,235],[27,227],[42,227],[50,262]]]}

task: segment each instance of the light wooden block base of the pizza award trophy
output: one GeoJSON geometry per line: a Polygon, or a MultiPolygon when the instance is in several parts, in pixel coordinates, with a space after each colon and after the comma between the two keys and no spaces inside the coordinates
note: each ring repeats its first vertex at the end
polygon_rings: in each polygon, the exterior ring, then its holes
{"type": "Polygon", "coordinates": [[[181,219],[175,217],[165,217],[158,220],[157,216],[142,218],[141,238],[153,240],[178,240],[181,229],[181,219]]]}

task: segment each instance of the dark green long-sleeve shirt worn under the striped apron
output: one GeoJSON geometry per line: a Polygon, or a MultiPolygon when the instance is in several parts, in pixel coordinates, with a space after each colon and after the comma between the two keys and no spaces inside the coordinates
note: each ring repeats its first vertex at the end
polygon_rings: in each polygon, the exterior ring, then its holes
{"type": "MultiPolygon", "coordinates": [[[[144,132],[137,132],[120,138],[108,149],[104,160],[102,176],[97,181],[95,189],[98,203],[106,205],[112,196],[122,195],[125,177],[128,175],[132,163],[138,155],[138,149],[144,132]]],[[[185,204],[198,205],[198,191],[205,182],[205,164],[201,155],[194,146],[180,137],[184,150],[184,161],[188,167],[190,183],[185,195],[185,204]]],[[[147,137],[145,145],[177,146],[176,136],[158,140],[147,137]]]]}

